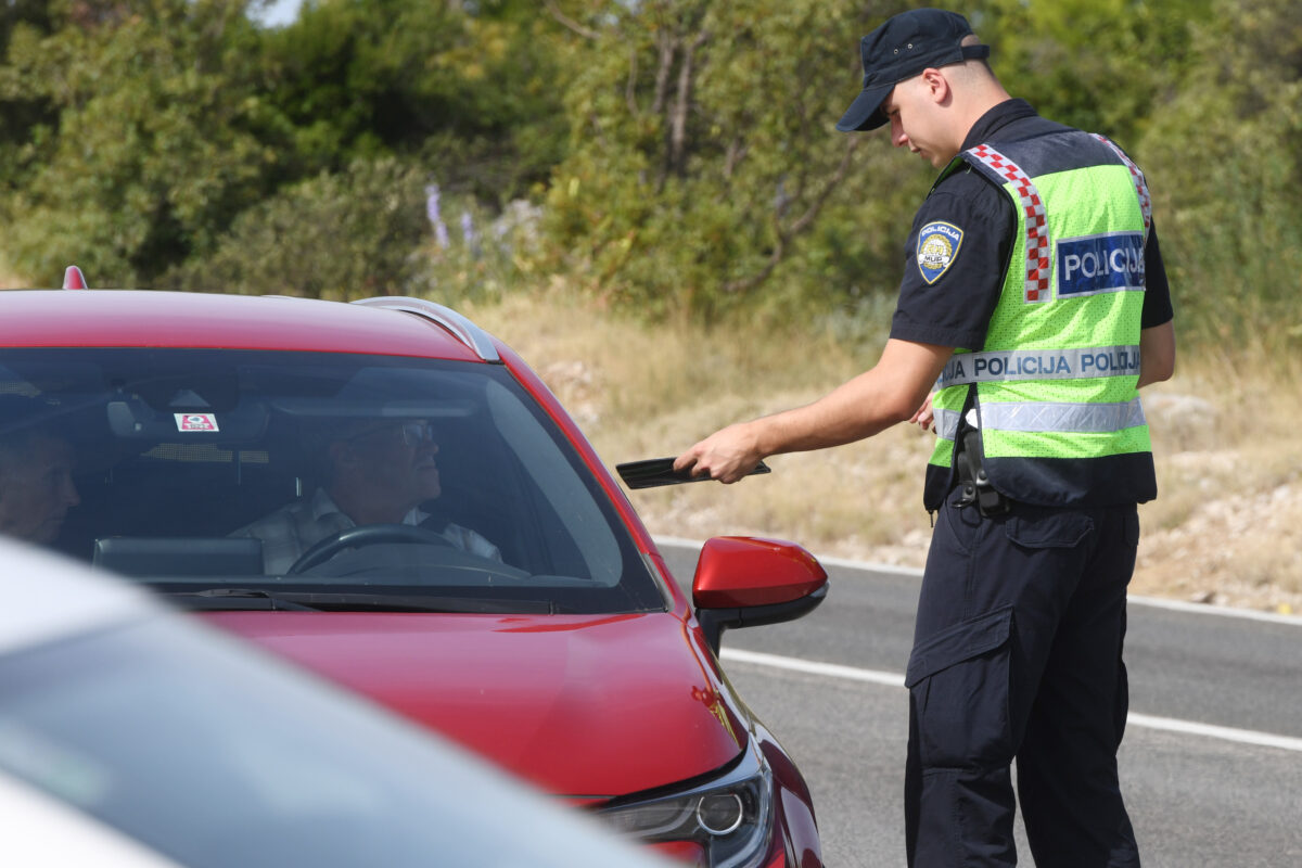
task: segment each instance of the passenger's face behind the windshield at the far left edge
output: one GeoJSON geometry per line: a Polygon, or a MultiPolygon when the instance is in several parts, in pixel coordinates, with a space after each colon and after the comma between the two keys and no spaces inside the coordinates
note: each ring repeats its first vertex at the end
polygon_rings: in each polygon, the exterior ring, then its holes
{"type": "Polygon", "coordinates": [[[33,424],[43,409],[35,398],[0,397],[0,534],[46,544],[81,497],[72,444],[49,423],[33,424]]]}

